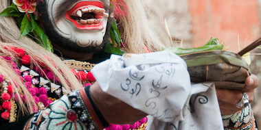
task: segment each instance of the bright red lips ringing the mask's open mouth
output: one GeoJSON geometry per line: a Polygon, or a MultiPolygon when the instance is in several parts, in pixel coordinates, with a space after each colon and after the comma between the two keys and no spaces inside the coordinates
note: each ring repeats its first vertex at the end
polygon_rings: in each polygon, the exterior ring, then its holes
{"type": "MultiPolygon", "coordinates": [[[[80,8],[82,6],[87,6],[87,5],[104,8],[103,4],[100,1],[80,1],[80,2],[76,3],[76,5],[74,5],[73,8],[71,8],[71,10],[69,10],[68,12],[65,13],[65,18],[67,18],[67,20],[71,21],[71,23],[73,23],[73,25],[75,25],[78,29],[82,29],[82,30],[104,29],[103,21],[101,21],[98,24],[82,25],[82,24],[78,23],[76,20],[73,20],[71,18],[71,14],[73,13],[73,11],[77,10],[78,8],[80,8]]],[[[102,18],[103,18],[103,16],[102,16],[102,18]]]]}

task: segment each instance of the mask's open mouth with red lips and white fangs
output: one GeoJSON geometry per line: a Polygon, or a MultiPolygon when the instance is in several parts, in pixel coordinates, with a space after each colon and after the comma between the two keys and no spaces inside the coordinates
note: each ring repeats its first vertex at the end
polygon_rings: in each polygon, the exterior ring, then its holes
{"type": "Polygon", "coordinates": [[[104,29],[103,18],[109,17],[100,1],[80,1],[65,13],[65,17],[78,29],[104,29]]]}

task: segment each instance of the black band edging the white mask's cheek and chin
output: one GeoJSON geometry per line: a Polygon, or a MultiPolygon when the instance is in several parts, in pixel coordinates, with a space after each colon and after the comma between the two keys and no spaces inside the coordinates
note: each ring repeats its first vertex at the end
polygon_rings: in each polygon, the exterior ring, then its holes
{"type": "MultiPolygon", "coordinates": [[[[71,0],[71,1],[79,1],[79,0],[71,0]]],[[[71,3],[71,2],[70,2],[71,3]]],[[[65,38],[61,36],[55,29],[54,24],[52,20],[50,19],[50,14],[47,12],[47,2],[40,2],[37,5],[37,11],[38,11],[38,16],[39,16],[39,21],[41,21],[41,24],[43,25],[43,29],[45,31],[45,34],[49,37],[49,40],[52,42],[55,42],[58,44],[60,47],[63,47],[65,49],[68,49],[69,51],[75,51],[78,53],[98,53],[98,51],[101,51],[102,48],[104,47],[104,44],[106,44],[108,38],[109,38],[109,29],[111,27],[110,23],[112,18],[109,17],[108,23],[106,26],[106,33],[104,35],[102,44],[98,47],[80,47],[76,42],[78,41],[72,41],[68,38],[65,38]]],[[[64,14],[65,12],[63,12],[64,14]]],[[[64,16],[64,15],[62,15],[64,16]]],[[[91,41],[93,44],[95,44],[95,41],[91,41]]]]}

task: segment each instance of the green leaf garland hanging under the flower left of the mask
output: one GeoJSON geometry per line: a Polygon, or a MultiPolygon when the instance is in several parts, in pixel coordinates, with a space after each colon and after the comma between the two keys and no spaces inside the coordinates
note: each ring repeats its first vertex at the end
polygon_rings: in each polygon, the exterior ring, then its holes
{"type": "Polygon", "coordinates": [[[43,46],[47,51],[54,52],[52,43],[49,38],[45,35],[43,29],[38,26],[37,16],[19,12],[18,8],[12,3],[8,8],[0,13],[0,16],[15,16],[21,29],[21,36],[26,36],[30,33],[36,38],[36,42],[43,46]]]}

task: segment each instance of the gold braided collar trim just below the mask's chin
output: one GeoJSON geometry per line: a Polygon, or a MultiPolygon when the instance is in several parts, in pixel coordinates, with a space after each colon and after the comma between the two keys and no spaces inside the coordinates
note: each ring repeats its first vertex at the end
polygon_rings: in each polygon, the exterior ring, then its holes
{"type": "Polygon", "coordinates": [[[90,71],[95,64],[91,64],[89,62],[80,62],[76,60],[64,60],[63,61],[69,68],[73,68],[76,70],[87,70],[90,71]]]}

